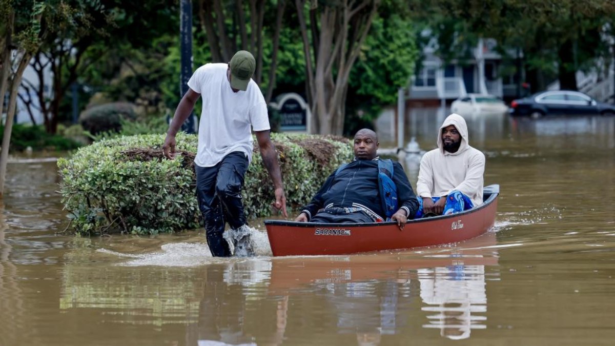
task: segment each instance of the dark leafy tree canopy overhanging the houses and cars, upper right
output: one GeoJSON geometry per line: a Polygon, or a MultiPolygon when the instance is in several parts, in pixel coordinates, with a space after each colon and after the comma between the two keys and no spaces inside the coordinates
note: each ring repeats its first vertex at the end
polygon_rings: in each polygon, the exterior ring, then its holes
{"type": "MultiPolygon", "coordinates": [[[[576,89],[576,71],[595,66],[605,55],[600,31],[615,13],[610,0],[557,3],[543,0],[435,0],[411,9],[426,22],[438,13],[465,23],[466,33],[498,41],[500,51],[520,49],[526,78],[534,90],[553,74],[563,89],[576,89]]],[[[517,64],[517,62],[514,62],[517,64]]]]}

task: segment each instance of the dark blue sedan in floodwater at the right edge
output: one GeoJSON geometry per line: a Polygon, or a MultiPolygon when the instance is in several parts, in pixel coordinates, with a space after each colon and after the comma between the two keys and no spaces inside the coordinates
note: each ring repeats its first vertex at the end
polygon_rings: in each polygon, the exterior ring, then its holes
{"type": "Polygon", "coordinates": [[[578,91],[543,91],[510,103],[514,116],[615,115],[615,105],[597,102],[578,91]]]}

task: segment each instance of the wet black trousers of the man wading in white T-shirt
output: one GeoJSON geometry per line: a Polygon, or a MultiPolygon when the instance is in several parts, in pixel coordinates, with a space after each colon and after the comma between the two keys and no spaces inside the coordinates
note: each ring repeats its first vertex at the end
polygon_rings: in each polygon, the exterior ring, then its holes
{"type": "Polygon", "coordinates": [[[248,158],[240,151],[224,156],[212,167],[194,166],[199,209],[205,223],[205,237],[213,256],[231,255],[228,243],[222,238],[224,223],[231,228],[245,224],[241,188],[248,169],[248,158]]]}

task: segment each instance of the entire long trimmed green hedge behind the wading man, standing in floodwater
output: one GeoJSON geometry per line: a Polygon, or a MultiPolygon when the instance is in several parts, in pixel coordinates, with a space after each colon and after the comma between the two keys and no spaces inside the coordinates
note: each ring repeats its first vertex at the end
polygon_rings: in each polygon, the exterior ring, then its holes
{"type": "MultiPolygon", "coordinates": [[[[327,176],[352,158],[342,137],[272,134],[292,213],[308,203],[327,176]]],[[[178,134],[175,160],[162,158],[164,135],[101,140],[60,159],[60,191],[71,226],[85,235],[156,234],[199,227],[192,159],[196,135],[178,134]]],[[[245,177],[248,218],[267,217],[274,199],[271,178],[255,153],[245,177]]],[[[296,213],[295,213],[296,214],[296,213]]]]}

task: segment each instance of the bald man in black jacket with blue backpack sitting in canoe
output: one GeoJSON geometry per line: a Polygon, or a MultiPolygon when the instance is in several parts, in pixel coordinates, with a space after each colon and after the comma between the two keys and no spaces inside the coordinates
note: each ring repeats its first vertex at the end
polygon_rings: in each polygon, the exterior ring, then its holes
{"type": "Polygon", "coordinates": [[[418,210],[418,199],[402,165],[380,160],[376,156],[377,149],[376,132],[370,129],[357,131],[354,160],[329,175],[295,221],[362,223],[390,219],[403,228],[407,219],[412,219],[418,210]],[[383,169],[384,166],[390,168],[383,169]],[[389,185],[383,188],[384,181],[389,185]],[[387,196],[388,201],[381,195],[387,196]]]}

